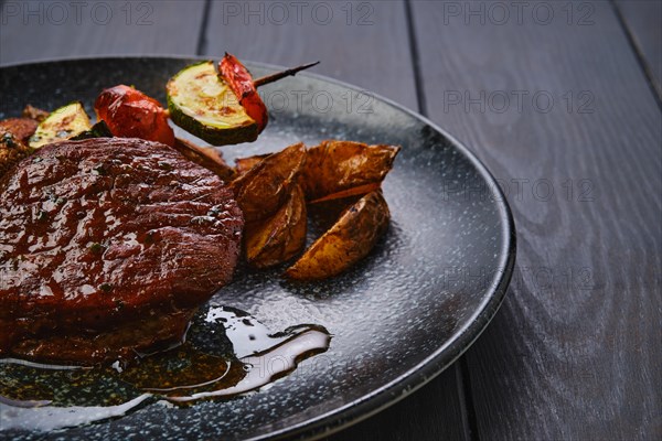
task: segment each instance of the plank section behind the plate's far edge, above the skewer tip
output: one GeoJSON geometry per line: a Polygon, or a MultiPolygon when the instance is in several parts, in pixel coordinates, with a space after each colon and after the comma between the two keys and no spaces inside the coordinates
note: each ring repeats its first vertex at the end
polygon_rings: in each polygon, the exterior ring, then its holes
{"type": "Polygon", "coordinates": [[[213,2],[204,47],[284,66],[319,60],[311,72],[416,109],[404,1],[213,2]]]}

